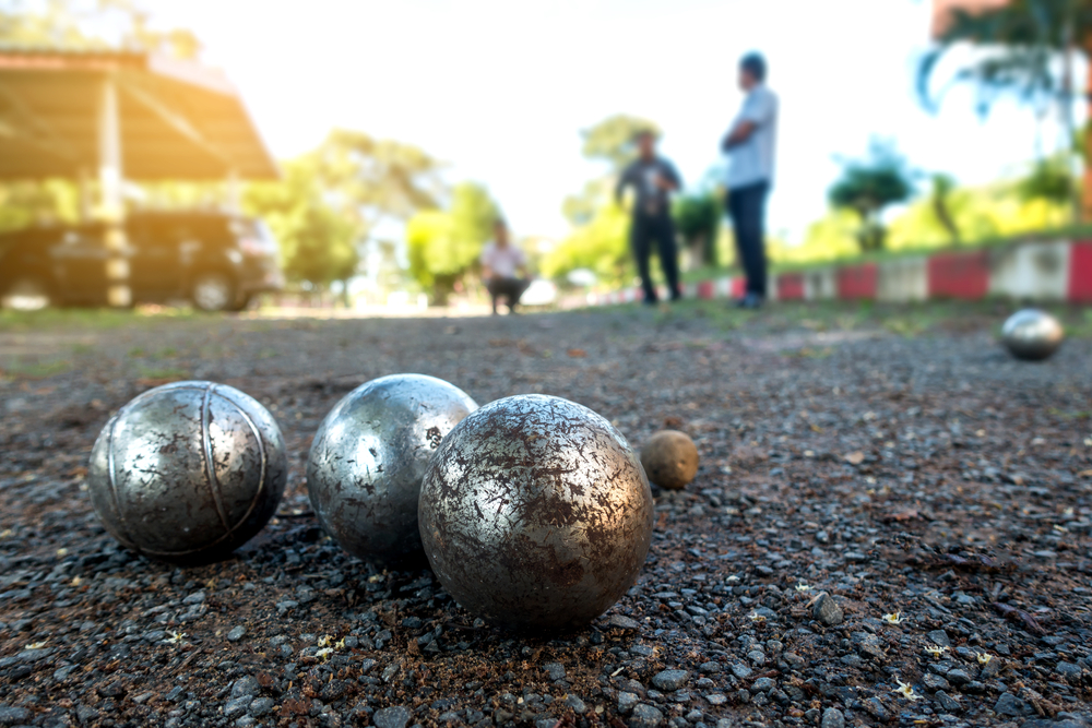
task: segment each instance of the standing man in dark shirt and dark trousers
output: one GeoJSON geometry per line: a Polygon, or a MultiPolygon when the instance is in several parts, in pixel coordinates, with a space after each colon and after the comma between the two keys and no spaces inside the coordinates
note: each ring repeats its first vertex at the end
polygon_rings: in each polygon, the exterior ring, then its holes
{"type": "Polygon", "coordinates": [[[656,289],[649,275],[649,256],[652,254],[653,242],[660,253],[660,265],[667,277],[672,300],[682,297],[679,293],[678,252],[675,248],[675,223],[672,220],[670,210],[670,193],[681,187],[681,181],[674,165],[656,156],[656,138],[651,131],[638,134],[637,146],[640,156],[618,178],[615,200],[621,203],[627,187],[632,187],[637,193],[629,236],[637,267],[641,273],[644,303],[651,306],[656,302],[656,289]]]}

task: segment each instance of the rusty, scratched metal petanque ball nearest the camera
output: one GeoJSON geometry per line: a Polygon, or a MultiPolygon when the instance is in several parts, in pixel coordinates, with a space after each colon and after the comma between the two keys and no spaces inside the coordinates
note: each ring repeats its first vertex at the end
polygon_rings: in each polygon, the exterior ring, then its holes
{"type": "Polygon", "coordinates": [[[529,394],[490,403],[451,431],[420,491],[432,571],[464,608],[518,629],[587,623],[637,580],[652,492],[610,423],[529,394]]]}

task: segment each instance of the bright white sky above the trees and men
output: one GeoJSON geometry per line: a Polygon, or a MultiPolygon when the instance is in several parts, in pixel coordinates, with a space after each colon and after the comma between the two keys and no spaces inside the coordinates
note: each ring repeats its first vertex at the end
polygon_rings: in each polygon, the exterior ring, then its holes
{"type": "Polygon", "coordinates": [[[417,144],[485,183],[520,235],[563,235],[566,194],[600,172],[579,130],[617,112],[665,131],[688,183],[719,160],[738,58],[764,52],[781,96],[772,231],[822,216],[834,155],[895,140],[964,183],[1032,157],[1034,119],[985,121],[968,93],[930,116],[914,95],[928,0],[152,0],[192,28],[288,157],[345,127],[417,144]]]}

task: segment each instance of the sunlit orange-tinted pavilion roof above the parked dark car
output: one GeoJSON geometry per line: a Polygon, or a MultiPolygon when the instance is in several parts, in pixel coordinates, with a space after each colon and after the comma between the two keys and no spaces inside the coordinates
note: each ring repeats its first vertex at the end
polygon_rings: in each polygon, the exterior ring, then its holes
{"type": "Polygon", "coordinates": [[[0,179],[94,175],[106,76],[118,88],[126,179],[278,176],[238,91],[215,69],[142,51],[0,46],[0,179]]]}

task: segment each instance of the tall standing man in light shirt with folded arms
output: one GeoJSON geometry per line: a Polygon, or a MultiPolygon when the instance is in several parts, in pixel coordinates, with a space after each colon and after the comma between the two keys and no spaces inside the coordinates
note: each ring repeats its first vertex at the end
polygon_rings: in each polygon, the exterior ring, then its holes
{"type": "Polygon", "coordinates": [[[728,215],[747,274],[747,291],[736,305],[753,309],[765,299],[765,199],[778,133],[778,97],[765,87],[765,59],[759,53],[739,61],[739,87],[744,106],[721,147],[731,158],[728,215]]]}

